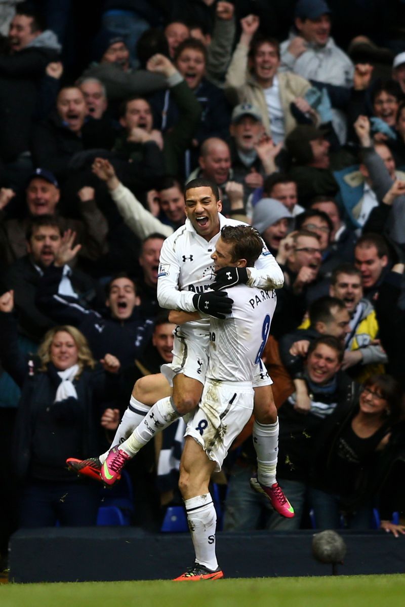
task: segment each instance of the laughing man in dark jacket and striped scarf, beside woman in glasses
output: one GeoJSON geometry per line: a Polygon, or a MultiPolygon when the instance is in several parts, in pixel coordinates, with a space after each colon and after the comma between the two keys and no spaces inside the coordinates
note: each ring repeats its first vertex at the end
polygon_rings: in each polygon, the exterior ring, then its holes
{"type": "Polygon", "coordinates": [[[316,437],[326,419],[333,419],[335,411],[352,399],[353,386],[340,371],[343,349],[336,337],[321,336],[310,345],[303,379],[310,393],[311,407],[307,415],[296,409],[293,393],[278,410],[280,419],[279,459],[277,476],[288,500],[294,503],[294,518],[273,516],[268,504],[260,496],[247,493],[247,478],[251,475],[254,459],[247,444],[243,445],[244,459],[234,466],[230,490],[226,498],[225,530],[247,531],[257,529],[265,514],[267,529],[292,531],[299,529],[304,512],[305,495],[311,455],[316,437]]]}

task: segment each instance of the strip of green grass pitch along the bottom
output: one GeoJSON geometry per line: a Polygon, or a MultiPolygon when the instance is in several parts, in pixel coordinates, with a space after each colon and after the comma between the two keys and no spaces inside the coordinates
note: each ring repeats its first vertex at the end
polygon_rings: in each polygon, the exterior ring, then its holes
{"type": "Polygon", "coordinates": [[[1,607],[403,607],[404,575],[0,586],[1,607]]]}

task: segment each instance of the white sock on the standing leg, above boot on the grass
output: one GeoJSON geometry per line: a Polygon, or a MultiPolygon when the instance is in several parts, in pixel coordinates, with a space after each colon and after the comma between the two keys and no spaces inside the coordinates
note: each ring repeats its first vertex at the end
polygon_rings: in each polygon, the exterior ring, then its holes
{"type": "Polygon", "coordinates": [[[196,562],[215,571],[218,561],[215,554],[217,513],[210,493],[197,495],[184,501],[196,562]]]}

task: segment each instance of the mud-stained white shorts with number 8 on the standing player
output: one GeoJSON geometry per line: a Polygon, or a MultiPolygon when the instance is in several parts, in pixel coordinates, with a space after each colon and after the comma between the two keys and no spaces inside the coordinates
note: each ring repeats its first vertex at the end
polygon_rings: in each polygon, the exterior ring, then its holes
{"type": "Polygon", "coordinates": [[[206,379],[201,401],[187,422],[185,436],[192,436],[222,467],[228,449],[253,413],[254,391],[251,382],[217,382],[206,379]]]}

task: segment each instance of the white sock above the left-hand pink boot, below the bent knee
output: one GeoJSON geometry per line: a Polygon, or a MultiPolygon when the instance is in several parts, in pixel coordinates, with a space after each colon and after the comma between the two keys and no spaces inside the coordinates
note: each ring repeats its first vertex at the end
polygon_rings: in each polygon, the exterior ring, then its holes
{"type": "Polygon", "coordinates": [[[120,445],[120,449],[124,449],[129,455],[134,456],[141,447],[149,443],[157,432],[162,432],[179,417],[180,415],[174,408],[171,396],[160,399],[149,409],[131,436],[120,445]]]}

